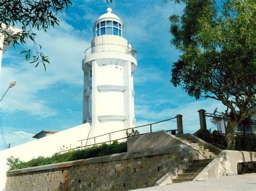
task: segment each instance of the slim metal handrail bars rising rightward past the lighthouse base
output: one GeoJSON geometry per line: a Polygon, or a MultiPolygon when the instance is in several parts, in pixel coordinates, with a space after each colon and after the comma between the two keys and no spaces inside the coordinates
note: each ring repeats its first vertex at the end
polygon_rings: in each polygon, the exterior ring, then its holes
{"type": "MultiPolygon", "coordinates": [[[[131,136],[128,136],[128,130],[131,130],[131,129],[138,129],[138,128],[142,128],[144,126],[150,126],[150,132],[148,133],[152,133],[152,125],[154,124],[158,124],[158,123],[163,123],[163,122],[166,122],[166,121],[170,121],[172,119],[175,119],[177,117],[172,117],[172,118],[169,118],[169,119],[165,119],[163,121],[159,121],[159,122],[154,122],[154,123],[150,123],[150,124],[146,124],[146,125],[140,125],[140,126],[136,126],[134,128],[127,128],[127,129],[123,129],[123,130],[118,130],[118,131],[113,131],[113,132],[110,132],[110,133],[105,133],[103,135],[99,135],[99,136],[96,136],[96,137],[91,137],[91,138],[87,138],[87,139],[81,139],[81,140],[78,140],[77,142],[81,142],[81,146],[79,147],[76,147],[76,148],[70,148],[69,150],[63,150],[63,151],[59,151],[59,153],[62,153],[62,152],[67,152],[67,151],[72,151],[72,150],[76,150],[76,149],[80,149],[80,148],[84,148],[84,147],[89,147],[89,146],[95,146],[95,145],[100,145],[100,144],[105,144],[105,143],[111,143],[111,142],[114,142],[116,140],[122,140],[122,139],[127,139],[131,136]],[[123,137],[123,138],[118,138],[118,139],[114,139],[114,140],[111,140],[111,134],[112,133],[116,133],[116,132],[120,132],[120,131],[126,131],[126,137],[123,137]],[[96,138],[97,137],[103,137],[103,136],[106,136],[106,135],[109,135],[110,137],[110,140],[106,141],[106,142],[101,142],[101,143],[96,143],[96,138]],[[94,144],[90,144],[90,145],[83,145],[83,141],[86,141],[86,140],[90,140],[90,139],[94,139],[94,144]]],[[[169,130],[171,131],[171,130],[169,130]]],[[[174,129],[173,131],[177,131],[177,129],[174,129]]],[[[148,133],[140,133],[138,135],[134,135],[134,136],[141,136],[141,135],[145,135],[145,134],[148,134],[148,133]]],[[[70,146],[71,147],[71,146],[70,146]]]]}

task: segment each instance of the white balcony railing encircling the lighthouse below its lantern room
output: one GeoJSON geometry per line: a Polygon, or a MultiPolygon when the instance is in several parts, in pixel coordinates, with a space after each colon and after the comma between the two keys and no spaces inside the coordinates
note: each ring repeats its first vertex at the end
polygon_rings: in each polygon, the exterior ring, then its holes
{"type": "Polygon", "coordinates": [[[129,54],[131,56],[133,56],[135,58],[135,53],[137,53],[137,51],[135,49],[132,49],[130,47],[127,46],[123,46],[123,45],[116,45],[116,44],[100,44],[100,45],[95,45],[92,47],[87,48],[84,51],[84,56],[89,56],[93,53],[97,53],[97,52],[120,52],[120,53],[124,53],[124,54],[129,54]]]}

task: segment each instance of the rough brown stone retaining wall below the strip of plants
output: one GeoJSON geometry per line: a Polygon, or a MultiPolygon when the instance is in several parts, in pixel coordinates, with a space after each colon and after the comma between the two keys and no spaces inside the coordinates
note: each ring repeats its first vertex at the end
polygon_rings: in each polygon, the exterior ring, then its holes
{"type": "Polygon", "coordinates": [[[157,151],[120,153],[48,165],[45,168],[10,171],[7,173],[5,189],[128,190],[150,187],[184,159],[178,151],[171,150],[171,153],[162,150],[165,154],[157,155],[152,155],[159,153],[157,151]]]}

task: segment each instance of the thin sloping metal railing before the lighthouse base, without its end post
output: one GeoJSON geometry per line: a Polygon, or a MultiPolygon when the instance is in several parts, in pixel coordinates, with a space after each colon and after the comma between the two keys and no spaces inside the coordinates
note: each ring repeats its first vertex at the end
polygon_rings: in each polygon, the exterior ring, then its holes
{"type": "MultiPolygon", "coordinates": [[[[106,133],[106,134],[103,134],[103,135],[100,135],[100,136],[96,136],[96,137],[92,137],[92,138],[88,138],[88,139],[78,140],[77,142],[80,142],[80,146],[76,146],[75,148],[71,148],[71,145],[70,145],[69,149],[60,147],[59,153],[67,152],[67,151],[72,151],[72,150],[83,149],[85,147],[90,147],[90,146],[95,146],[95,145],[111,144],[114,141],[124,140],[124,139],[127,139],[127,138],[132,137],[132,136],[141,136],[141,135],[145,135],[145,134],[148,134],[148,133],[156,132],[156,131],[153,131],[153,125],[159,124],[159,123],[163,123],[163,122],[167,122],[167,121],[171,121],[172,119],[175,119],[175,118],[177,118],[177,116],[169,118],[169,119],[165,119],[163,121],[155,122],[155,123],[150,123],[150,124],[146,124],[146,125],[140,125],[140,126],[136,126],[134,128],[128,128],[128,129],[124,129],[124,130],[113,131],[113,132],[106,133]],[[143,127],[146,127],[146,126],[149,128],[148,129],[149,131],[147,131],[145,133],[138,133],[138,134],[134,133],[139,128],[143,128],[143,127]],[[132,130],[133,130],[133,132],[132,132],[132,130]],[[112,139],[111,135],[113,135],[113,133],[117,133],[117,132],[125,132],[126,136],[125,137],[120,137],[120,138],[112,139]],[[109,137],[107,141],[97,143],[96,139],[99,139],[100,137],[106,137],[106,136],[109,137]],[[90,144],[88,144],[88,142],[90,142],[90,144]]],[[[179,124],[177,124],[177,125],[179,125],[179,124]]],[[[161,129],[161,130],[164,130],[164,129],[161,129]]],[[[167,132],[170,132],[173,135],[176,134],[176,131],[178,131],[178,130],[177,129],[167,130],[167,132]]]]}

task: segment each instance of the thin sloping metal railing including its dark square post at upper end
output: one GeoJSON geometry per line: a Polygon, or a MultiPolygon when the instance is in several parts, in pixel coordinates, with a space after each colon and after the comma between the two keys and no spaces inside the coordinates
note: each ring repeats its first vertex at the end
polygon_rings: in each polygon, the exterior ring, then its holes
{"type": "MultiPolygon", "coordinates": [[[[182,115],[177,115],[176,117],[165,119],[163,121],[159,121],[159,122],[155,122],[155,123],[150,123],[150,124],[146,124],[146,125],[140,125],[140,126],[136,126],[134,128],[128,128],[128,129],[123,129],[123,130],[119,130],[119,131],[113,131],[113,132],[110,132],[110,133],[106,133],[106,134],[103,134],[103,135],[100,135],[100,136],[96,136],[96,137],[92,137],[92,138],[88,138],[88,139],[78,140],[77,142],[80,142],[80,146],[77,146],[75,148],[71,148],[71,145],[70,145],[70,149],[68,149],[68,150],[63,149],[62,147],[60,147],[59,153],[67,152],[67,151],[72,151],[72,150],[83,149],[83,148],[89,147],[89,146],[95,146],[95,145],[101,145],[101,144],[111,144],[114,141],[124,140],[124,139],[127,139],[127,138],[131,137],[131,136],[141,136],[141,135],[145,135],[147,133],[152,133],[153,132],[153,125],[159,124],[159,123],[163,123],[163,122],[167,122],[167,121],[171,121],[172,119],[175,119],[175,118],[177,118],[177,129],[170,129],[170,130],[167,130],[167,132],[171,132],[173,135],[175,135],[176,131],[177,131],[178,134],[182,134],[183,133],[182,117],[183,117],[182,115]],[[146,126],[149,127],[149,129],[148,129],[149,131],[148,132],[139,133],[139,134],[132,133],[132,130],[137,130],[139,128],[143,128],[143,127],[146,127],[146,126]],[[113,133],[122,132],[122,131],[126,133],[125,137],[120,137],[118,139],[111,139],[111,135],[113,135],[113,133]],[[131,135],[131,134],[133,134],[133,135],[131,135]],[[106,142],[99,142],[99,143],[96,142],[97,138],[105,137],[105,136],[109,136],[109,140],[107,140],[106,142]],[[90,142],[92,141],[93,143],[92,144],[87,144],[89,141],[90,142]]],[[[133,132],[135,132],[135,131],[133,131],[133,132]]]]}

